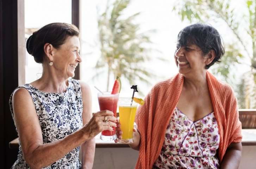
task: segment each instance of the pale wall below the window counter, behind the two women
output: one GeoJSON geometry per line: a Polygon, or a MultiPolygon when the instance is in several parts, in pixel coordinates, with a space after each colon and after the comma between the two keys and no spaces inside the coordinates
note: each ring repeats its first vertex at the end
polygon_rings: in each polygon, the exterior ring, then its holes
{"type": "MultiPolygon", "coordinates": [[[[239,169],[256,168],[256,146],[243,146],[239,169]]],[[[134,169],[138,151],[131,148],[96,148],[93,169],[134,169]]]]}

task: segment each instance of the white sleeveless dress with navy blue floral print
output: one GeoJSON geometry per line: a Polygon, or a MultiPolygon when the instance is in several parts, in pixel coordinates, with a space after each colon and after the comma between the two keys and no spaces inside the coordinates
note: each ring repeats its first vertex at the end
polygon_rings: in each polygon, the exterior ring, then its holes
{"type": "MultiPolygon", "coordinates": [[[[20,87],[25,88],[30,93],[34,102],[42,130],[43,144],[62,139],[83,126],[82,93],[81,86],[77,80],[68,79],[68,88],[64,93],[45,93],[36,89],[31,84],[25,84],[20,87]]],[[[9,104],[15,123],[12,96],[13,94],[10,97],[9,104]]],[[[80,169],[79,150],[80,147],[75,148],[44,169],[80,169]]],[[[18,159],[13,164],[12,169],[25,168],[29,169],[30,167],[26,164],[21,146],[19,145],[18,159]]]]}

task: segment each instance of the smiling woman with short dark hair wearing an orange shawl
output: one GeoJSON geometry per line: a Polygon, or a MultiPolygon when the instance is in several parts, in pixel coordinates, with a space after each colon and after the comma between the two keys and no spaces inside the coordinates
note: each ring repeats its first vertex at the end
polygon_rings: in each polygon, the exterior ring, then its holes
{"type": "MultiPolygon", "coordinates": [[[[179,73],[156,84],[136,115],[131,148],[136,169],[237,169],[242,134],[232,88],[207,71],[224,54],[210,25],[180,31],[175,62],[179,73]]],[[[117,127],[121,138],[120,124],[117,127]]]]}

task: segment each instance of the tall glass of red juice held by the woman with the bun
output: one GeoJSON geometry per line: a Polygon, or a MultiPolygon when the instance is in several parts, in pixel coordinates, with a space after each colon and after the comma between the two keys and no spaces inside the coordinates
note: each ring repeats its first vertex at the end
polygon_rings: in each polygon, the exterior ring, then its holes
{"type": "MultiPolygon", "coordinates": [[[[98,101],[100,110],[109,110],[114,113],[114,116],[117,116],[117,104],[118,104],[119,93],[111,94],[111,92],[98,93],[98,101]]],[[[113,131],[104,130],[101,132],[100,139],[104,141],[110,141],[117,139],[115,135],[115,127],[113,131]]]]}

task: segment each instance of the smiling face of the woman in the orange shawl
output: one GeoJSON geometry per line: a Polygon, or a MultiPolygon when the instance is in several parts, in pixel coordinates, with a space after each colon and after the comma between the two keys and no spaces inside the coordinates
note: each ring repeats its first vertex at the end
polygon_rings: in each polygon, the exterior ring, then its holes
{"type": "Polygon", "coordinates": [[[181,46],[176,50],[175,62],[183,75],[205,71],[207,58],[197,45],[181,46]]]}

